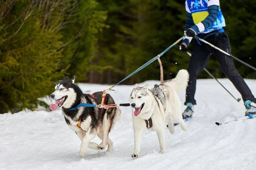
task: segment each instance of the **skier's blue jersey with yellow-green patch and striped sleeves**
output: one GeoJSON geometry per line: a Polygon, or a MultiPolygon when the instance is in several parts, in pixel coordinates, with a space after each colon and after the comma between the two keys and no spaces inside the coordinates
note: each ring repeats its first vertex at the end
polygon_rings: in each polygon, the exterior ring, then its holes
{"type": "MultiPolygon", "coordinates": [[[[197,34],[220,30],[226,26],[221,13],[219,0],[186,0],[185,31],[192,28],[197,34]]],[[[185,37],[183,42],[188,45],[192,37],[185,37]]]]}

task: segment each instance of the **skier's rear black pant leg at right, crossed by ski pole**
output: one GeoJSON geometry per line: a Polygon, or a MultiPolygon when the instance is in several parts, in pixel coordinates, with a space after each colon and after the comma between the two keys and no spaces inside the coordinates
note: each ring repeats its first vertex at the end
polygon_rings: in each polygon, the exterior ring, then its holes
{"type": "MultiPolygon", "coordinates": [[[[218,35],[215,45],[218,48],[221,48],[222,50],[231,54],[230,41],[226,33],[221,33],[218,35]]],[[[221,66],[221,70],[239,91],[243,100],[251,100],[252,102],[256,102],[256,99],[250,91],[250,88],[247,86],[247,84],[244,82],[244,79],[239,75],[239,72],[236,70],[233,58],[225,55],[224,53],[216,49],[214,50],[214,53],[221,66]]]]}

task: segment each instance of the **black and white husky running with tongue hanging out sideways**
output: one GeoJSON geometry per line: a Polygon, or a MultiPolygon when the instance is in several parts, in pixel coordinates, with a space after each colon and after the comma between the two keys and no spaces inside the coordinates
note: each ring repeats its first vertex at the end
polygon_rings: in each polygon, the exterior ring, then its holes
{"type": "MultiPolygon", "coordinates": [[[[96,92],[92,95],[83,94],[74,82],[75,77],[70,80],[65,77],[55,86],[55,91],[51,94],[51,98],[57,101],[55,104],[50,105],[50,109],[62,108],[67,125],[81,139],[80,156],[86,154],[87,148],[102,150],[106,147],[106,144],[108,144],[107,151],[112,151],[113,142],[109,139],[108,133],[115,122],[120,119],[121,110],[118,107],[101,109],[81,106],[76,108],[82,103],[100,105],[102,92],[96,92]],[[96,135],[102,139],[99,145],[90,142],[96,135]]],[[[104,104],[112,105],[115,102],[109,94],[106,94],[104,104]]]]}

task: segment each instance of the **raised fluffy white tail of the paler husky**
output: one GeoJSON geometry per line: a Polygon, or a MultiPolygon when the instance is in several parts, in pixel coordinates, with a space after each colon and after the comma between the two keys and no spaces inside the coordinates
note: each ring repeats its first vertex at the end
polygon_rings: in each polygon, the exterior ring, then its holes
{"type": "Polygon", "coordinates": [[[164,85],[171,87],[174,91],[180,92],[186,89],[189,82],[189,72],[182,69],[178,72],[174,79],[166,80],[163,82],[164,85]]]}

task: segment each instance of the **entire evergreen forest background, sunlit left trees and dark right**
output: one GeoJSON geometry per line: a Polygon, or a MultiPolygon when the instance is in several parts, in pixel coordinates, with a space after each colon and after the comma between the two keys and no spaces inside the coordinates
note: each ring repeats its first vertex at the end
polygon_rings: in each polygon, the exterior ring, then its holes
{"type": "MultiPolygon", "coordinates": [[[[183,35],[185,0],[0,0],[0,113],[45,105],[65,76],[114,85],[183,35]]],[[[221,0],[233,56],[256,66],[256,1],[221,0]]],[[[176,45],[161,57],[164,79],[187,68],[176,45]]],[[[189,51],[192,50],[189,46],[189,51]]],[[[256,73],[235,61],[244,78],[256,73]]],[[[224,74],[212,56],[207,69],[224,74]]],[[[173,75],[173,76],[172,76],[173,75]]],[[[199,78],[210,78],[201,72],[199,78]]],[[[160,79],[157,61],[125,80],[160,79]]]]}

